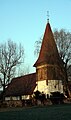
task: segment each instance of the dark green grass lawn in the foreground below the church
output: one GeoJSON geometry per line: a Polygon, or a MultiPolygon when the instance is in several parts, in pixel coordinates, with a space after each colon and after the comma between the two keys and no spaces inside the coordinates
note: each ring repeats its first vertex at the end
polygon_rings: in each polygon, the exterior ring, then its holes
{"type": "Polygon", "coordinates": [[[71,104],[30,108],[7,108],[0,120],[71,120],[71,104]]]}

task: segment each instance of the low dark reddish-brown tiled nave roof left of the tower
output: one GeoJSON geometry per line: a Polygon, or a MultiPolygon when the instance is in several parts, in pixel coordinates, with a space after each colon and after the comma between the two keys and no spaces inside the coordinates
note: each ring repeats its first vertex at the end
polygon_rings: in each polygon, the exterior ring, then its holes
{"type": "Polygon", "coordinates": [[[31,95],[36,87],[36,73],[13,78],[5,96],[31,95]]]}

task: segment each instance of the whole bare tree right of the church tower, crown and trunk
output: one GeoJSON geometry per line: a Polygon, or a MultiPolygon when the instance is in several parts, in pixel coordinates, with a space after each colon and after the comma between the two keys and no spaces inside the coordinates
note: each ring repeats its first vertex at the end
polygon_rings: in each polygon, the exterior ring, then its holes
{"type": "Polygon", "coordinates": [[[54,37],[58,47],[59,55],[64,63],[65,89],[68,96],[71,96],[69,86],[68,86],[68,79],[70,77],[68,70],[71,65],[71,33],[67,32],[65,29],[61,29],[60,31],[55,30],[54,37]]]}

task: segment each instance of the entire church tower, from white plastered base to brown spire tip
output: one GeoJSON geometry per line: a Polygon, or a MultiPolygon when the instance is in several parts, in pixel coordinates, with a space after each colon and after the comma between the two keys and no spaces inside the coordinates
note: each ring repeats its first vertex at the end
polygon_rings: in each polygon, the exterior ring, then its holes
{"type": "Polygon", "coordinates": [[[37,89],[50,94],[54,91],[63,92],[63,63],[59,56],[50,23],[47,22],[36,67],[37,89]]]}

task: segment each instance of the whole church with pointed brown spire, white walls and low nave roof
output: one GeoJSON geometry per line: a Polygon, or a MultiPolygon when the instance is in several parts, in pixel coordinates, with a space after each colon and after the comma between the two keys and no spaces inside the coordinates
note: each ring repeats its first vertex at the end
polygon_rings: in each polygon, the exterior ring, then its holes
{"type": "Polygon", "coordinates": [[[29,98],[36,90],[49,95],[55,91],[63,93],[65,79],[63,62],[59,56],[49,21],[45,27],[38,59],[33,64],[36,72],[13,78],[6,88],[6,98],[29,98]]]}

